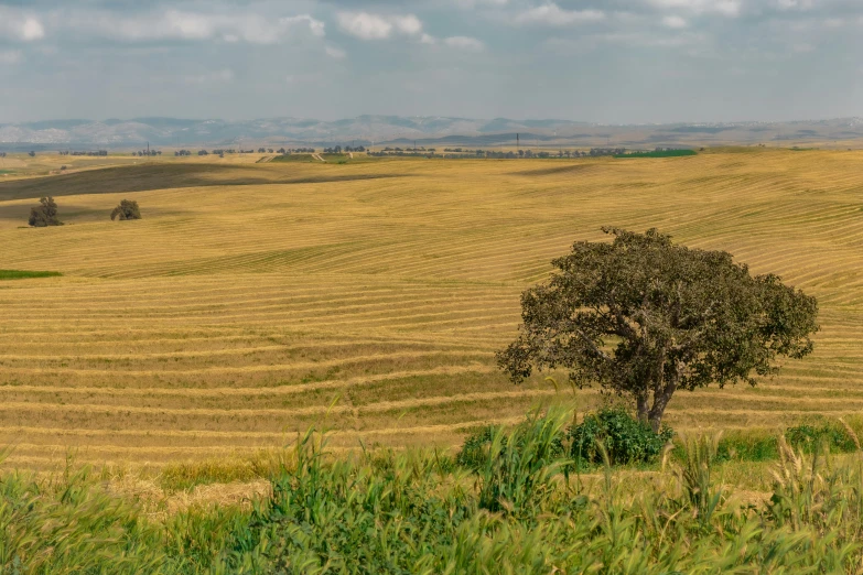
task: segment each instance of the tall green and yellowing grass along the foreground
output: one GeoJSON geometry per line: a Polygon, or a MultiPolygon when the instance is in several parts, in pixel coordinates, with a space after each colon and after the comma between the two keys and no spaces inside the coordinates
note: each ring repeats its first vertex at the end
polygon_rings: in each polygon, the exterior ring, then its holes
{"type": "MultiPolygon", "coordinates": [[[[473,470],[436,452],[333,456],[306,433],[247,507],[157,521],[87,473],[0,477],[6,573],[854,573],[863,460],[778,440],[769,492],[736,491],[718,444],[649,477],[575,473],[572,412],[496,428],[473,470]],[[565,449],[564,449],[565,451],[565,449]]],[[[849,431],[849,434],[851,432],[849,431]]],[[[852,435],[853,436],[853,435],[852,435]]],[[[856,442],[856,437],[854,441],[856,442]]],[[[859,449],[859,445],[856,446],[859,449]]]]}

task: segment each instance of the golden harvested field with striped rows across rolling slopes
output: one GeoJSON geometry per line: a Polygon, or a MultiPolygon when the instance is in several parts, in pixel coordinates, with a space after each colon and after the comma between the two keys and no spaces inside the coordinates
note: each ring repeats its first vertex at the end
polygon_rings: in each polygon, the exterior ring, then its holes
{"type": "MultiPolygon", "coordinates": [[[[863,153],[639,160],[153,162],[0,182],[7,465],[456,444],[572,392],[495,350],[576,239],[658,227],[816,295],[817,349],[756,388],[678,392],[668,422],[778,427],[863,410],[863,153]],[[54,195],[66,226],[25,226],[54,195]],[[111,221],[120,199],[140,221],[111,221]]],[[[560,376],[560,375],[559,375],[560,376]]],[[[582,409],[595,390],[576,394],[582,409]]]]}

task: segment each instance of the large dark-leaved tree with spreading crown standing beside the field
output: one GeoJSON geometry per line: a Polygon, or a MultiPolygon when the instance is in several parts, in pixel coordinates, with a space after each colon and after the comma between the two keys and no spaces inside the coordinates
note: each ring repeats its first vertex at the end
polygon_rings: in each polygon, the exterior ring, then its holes
{"type": "Polygon", "coordinates": [[[752,276],[724,251],[689,249],[650,229],[603,228],[611,243],[579,241],[550,281],[521,295],[519,337],[497,354],[518,383],[532,368],[565,368],[635,400],[659,431],[678,389],[777,371],[777,356],[812,351],[818,303],[776,275],[752,276]]]}

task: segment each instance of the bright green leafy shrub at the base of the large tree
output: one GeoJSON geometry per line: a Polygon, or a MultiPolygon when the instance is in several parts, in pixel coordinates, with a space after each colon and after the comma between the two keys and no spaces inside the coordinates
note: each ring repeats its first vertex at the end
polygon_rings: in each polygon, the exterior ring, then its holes
{"type": "Polygon", "coordinates": [[[662,427],[655,433],[626,410],[607,408],[585,416],[581,424],[570,427],[568,435],[576,462],[602,463],[604,449],[612,465],[626,465],[654,460],[675,432],[662,427]]]}

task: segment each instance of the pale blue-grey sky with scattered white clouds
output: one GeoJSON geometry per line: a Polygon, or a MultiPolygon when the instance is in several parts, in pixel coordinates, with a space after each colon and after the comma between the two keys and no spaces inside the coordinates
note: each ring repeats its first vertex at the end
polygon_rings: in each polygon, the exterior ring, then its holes
{"type": "Polygon", "coordinates": [[[0,0],[0,122],[863,116],[863,0],[0,0]]]}

